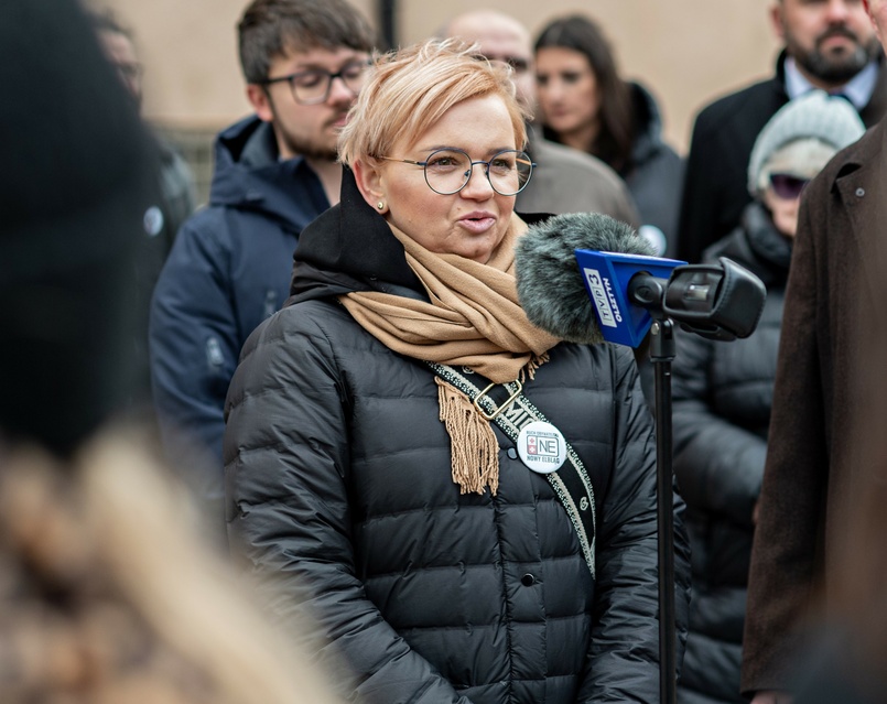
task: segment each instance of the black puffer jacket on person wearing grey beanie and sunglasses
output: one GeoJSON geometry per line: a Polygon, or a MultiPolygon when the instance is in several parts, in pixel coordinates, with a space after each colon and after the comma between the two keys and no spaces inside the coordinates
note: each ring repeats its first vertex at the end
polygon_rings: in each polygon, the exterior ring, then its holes
{"type": "Polygon", "coordinates": [[[681,704],[745,702],[739,695],[745,597],[760,492],[791,248],[760,205],[710,247],[767,286],[755,333],[716,343],[680,333],[672,365],[674,473],[688,505],[693,605],[681,704]]]}

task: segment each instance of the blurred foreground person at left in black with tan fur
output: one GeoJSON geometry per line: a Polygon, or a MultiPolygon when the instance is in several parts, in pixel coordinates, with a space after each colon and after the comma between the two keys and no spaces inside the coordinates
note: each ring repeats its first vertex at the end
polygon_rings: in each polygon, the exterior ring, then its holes
{"type": "Polygon", "coordinates": [[[333,704],[115,425],[151,137],[74,0],[0,3],[0,701],[333,704]]]}

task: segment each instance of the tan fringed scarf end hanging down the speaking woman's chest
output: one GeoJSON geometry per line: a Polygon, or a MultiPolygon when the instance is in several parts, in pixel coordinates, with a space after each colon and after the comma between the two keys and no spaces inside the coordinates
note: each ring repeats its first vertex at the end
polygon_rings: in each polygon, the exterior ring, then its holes
{"type": "Polygon", "coordinates": [[[489,422],[480,416],[468,397],[435,377],[440,418],[450,435],[453,481],[461,494],[499,489],[499,442],[489,422]]]}

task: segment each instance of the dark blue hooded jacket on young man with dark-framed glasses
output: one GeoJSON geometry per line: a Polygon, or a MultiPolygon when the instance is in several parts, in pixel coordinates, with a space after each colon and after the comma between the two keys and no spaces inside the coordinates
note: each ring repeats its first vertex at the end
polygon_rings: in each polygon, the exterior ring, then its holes
{"type": "Polygon", "coordinates": [[[177,466],[195,467],[188,480],[219,510],[223,410],[240,348],[283,305],[299,235],[328,207],[305,161],[280,161],[271,126],[245,119],[218,136],[209,205],[182,226],[154,290],[151,373],[164,444],[177,466]],[[182,454],[194,441],[205,456],[182,454]]]}

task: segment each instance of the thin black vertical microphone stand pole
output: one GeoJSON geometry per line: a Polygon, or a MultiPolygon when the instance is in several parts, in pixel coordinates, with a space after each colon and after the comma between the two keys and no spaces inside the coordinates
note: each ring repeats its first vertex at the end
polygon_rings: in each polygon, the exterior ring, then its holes
{"type": "Polygon", "coordinates": [[[650,361],[656,373],[656,479],[659,534],[659,695],[675,704],[674,496],[672,489],[671,362],[674,327],[661,311],[651,310],[650,361]]]}

